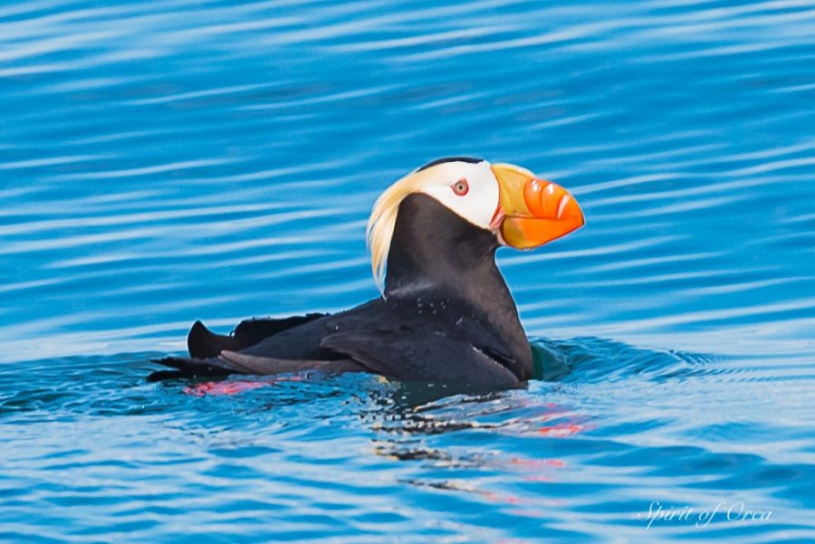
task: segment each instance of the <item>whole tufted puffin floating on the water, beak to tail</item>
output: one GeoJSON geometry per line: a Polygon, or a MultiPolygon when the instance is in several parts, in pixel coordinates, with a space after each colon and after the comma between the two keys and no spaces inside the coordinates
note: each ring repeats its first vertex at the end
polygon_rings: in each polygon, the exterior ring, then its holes
{"type": "Polygon", "coordinates": [[[433,161],[390,186],[367,240],[381,296],[335,314],[241,322],[219,335],[197,321],[188,358],[150,379],[369,372],[405,382],[507,387],[532,377],[532,348],[495,264],[584,224],[561,186],[471,157],[433,161]]]}

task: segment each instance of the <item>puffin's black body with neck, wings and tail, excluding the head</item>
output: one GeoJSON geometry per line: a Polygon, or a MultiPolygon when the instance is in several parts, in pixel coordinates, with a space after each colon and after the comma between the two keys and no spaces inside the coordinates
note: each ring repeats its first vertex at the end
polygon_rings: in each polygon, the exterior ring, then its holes
{"type": "Polygon", "coordinates": [[[493,233],[430,196],[399,205],[385,296],[333,315],[247,320],[232,336],[197,322],[190,358],[152,377],[372,372],[402,381],[505,387],[532,377],[532,352],[495,265],[493,233]],[[222,351],[226,350],[226,351],[222,351]]]}

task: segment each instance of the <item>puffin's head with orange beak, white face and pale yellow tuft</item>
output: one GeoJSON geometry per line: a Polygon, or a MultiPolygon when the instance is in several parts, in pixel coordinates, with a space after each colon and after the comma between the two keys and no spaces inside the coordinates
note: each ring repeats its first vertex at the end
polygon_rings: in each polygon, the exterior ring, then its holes
{"type": "Polygon", "coordinates": [[[475,227],[490,231],[498,243],[531,249],[580,228],[580,205],[563,187],[529,170],[480,158],[433,161],[388,187],[374,205],[367,238],[374,276],[381,287],[399,204],[423,193],[475,227]]]}

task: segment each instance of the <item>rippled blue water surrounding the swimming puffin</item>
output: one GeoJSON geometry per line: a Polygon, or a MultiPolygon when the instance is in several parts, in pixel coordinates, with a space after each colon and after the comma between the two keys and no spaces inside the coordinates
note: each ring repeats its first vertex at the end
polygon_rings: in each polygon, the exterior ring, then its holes
{"type": "Polygon", "coordinates": [[[815,540],[811,2],[17,0],[0,119],[0,540],[815,540]],[[586,214],[499,255],[548,379],[145,381],[457,154],[586,214]]]}

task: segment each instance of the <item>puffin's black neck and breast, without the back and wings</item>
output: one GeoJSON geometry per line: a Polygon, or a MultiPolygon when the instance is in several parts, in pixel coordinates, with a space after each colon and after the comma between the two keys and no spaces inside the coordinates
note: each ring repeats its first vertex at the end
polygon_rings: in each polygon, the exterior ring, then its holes
{"type": "Polygon", "coordinates": [[[455,301],[501,339],[530,377],[532,353],[512,294],[495,265],[498,242],[490,231],[455,215],[436,199],[407,196],[399,205],[388,252],[388,301],[455,301]]]}

